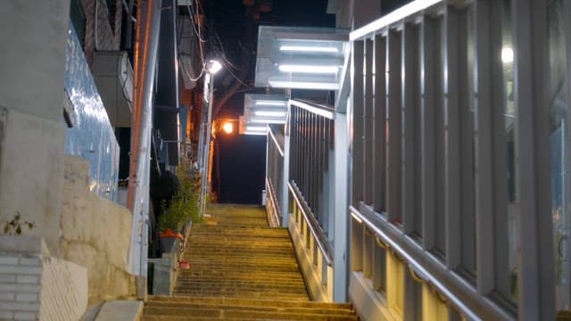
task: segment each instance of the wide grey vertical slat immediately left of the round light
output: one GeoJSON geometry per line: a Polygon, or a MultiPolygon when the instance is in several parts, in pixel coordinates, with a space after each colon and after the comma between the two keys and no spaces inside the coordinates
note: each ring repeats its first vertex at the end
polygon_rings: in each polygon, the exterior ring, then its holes
{"type": "MultiPolygon", "coordinates": [[[[476,36],[476,72],[475,72],[475,116],[476,116],[476,287],[480,294],[487,294],[496,289],[497,282],[502,278],[498,273],[503,272],[507,276],[507,267],[498,271],[498,248],[507,247],[496,239],[495,229],[500,216],[506,220],[507,225],[507,186],[501,185],[494,179],[495,169],[498,164],[503,169],[500,174],[505,180],[506,158],[505,151],[496,148],[496,140],[501,141],[498,147],[505,149],[505,138],[501,138],[503,128],[497,128],[494,123],[494,110],[503,111],[501,95],[494,92],[494,86],[501,90],[501,62],[494,62],[493,52],[500,52],[501,39],[494,36],[501,29],[501,10],[497,11],[497,5],[491,1],[480,0],[476,2],[475,11],[475,36],[476,36]],[[495,9],[495,10],[494,10],[495,9]],[[497,29],[496,29],[497,28],[497,29]],[[495,64],[495,65],[494,65],[495,64]],[[500,72],[500,75],[498,75],[500,72]],[[499,79],[498,79],[499,78],[499,79]],[[496,152],[503,154],[498,155],[496,152]]],[[[501,5],[501,4],[500,4],[501,5]]],[[[501,7],[500,7],[501,9],[501,7]]],[[[501,112],[501,120],[503,115],[501,112]]],[[[504,225],[504,226],[505,226],[504,225]]],[[[507,233],[508,230],[501,230],[507,233]]],[[[507,254],[507,253],[505,253],[507,254]]],[[[506,258],[507,259],[507,258],[506,258]]],[[[505,277],[504,277],[505,279],[505,277]]],[[[501,281],[500,281],[501,282],[501,281]]]]}

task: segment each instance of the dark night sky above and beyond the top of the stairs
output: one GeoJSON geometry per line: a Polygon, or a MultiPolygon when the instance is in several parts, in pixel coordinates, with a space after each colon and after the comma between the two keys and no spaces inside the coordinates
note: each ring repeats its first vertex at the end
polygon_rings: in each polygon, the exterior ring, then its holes
{"type": "MultiPolygon", "coordinates": [[[[240,0],[210,0],[205,6],[207,21],[216,29],[226,59],[236,66],[235,74],[244,66],[243,50],[249,49],[245,54],[251,59],[244,79],[247,85],[253,83],[258,25],[335,27],[335,15],[326,14],[327,0],[273,0],[271,12],[262,12],[259,22],[252,21],[251,12],[246,11],[240,0]]],[[[216,48],[214,51],[221,52],[216,48]]],[[[221,85],[231,79],[228,71],[216,75],[221,85]]],[[[263,88],[243,86],[242,89],[224,104],[223,117],[236,118],[243,113],[244,92],[264,93],[263,88]]],[[[219,202],[260,204],[266,169],[266,136],[219,135],[215,141],[212,189],[219,191],[219,202]]]]}

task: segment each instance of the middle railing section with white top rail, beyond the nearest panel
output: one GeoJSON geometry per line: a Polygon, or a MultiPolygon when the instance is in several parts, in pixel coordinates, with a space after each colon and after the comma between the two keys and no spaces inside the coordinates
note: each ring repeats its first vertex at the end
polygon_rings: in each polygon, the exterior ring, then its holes
{"type": "Polygon", "coordinates": [[[334,297],[333,178],[335,112],[328,106],[289,101],[289,175],[293,203],[289,228],[313,300],[334,297]]]}

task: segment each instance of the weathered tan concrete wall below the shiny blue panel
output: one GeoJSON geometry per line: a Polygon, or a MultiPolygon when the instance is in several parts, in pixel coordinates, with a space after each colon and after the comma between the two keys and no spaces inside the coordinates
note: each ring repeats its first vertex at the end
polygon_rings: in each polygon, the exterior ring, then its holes
{"type": "Polygon", "coordinates": [[[87,268],[89,304],[133,297],[128,273],[131,213],[88,188],[89,163],[66,156],[62,202],[62,258],[87,268]]]}

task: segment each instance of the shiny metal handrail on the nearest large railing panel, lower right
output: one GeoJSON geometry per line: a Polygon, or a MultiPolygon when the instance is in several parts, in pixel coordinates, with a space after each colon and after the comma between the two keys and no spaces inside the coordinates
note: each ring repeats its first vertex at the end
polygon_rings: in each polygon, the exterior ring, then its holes
{"type": "MultiPolygon", "coordinates": [[[[379,228],[375,223],[373,223],[368,216],[363,215],[360,210],[355,209],[353,206],[349,207],[351,215],[353,218],[357,219],[366,226],[366,228],[375,234],[375,236],[379,239],[380,242],[388,244],[388,246],[393,250],[393,252],[401,257],[404,262],[414,270],[414,273],[422,278],[427,284],[431,284],[434,288],[438,291],[443,293],[449,300],[450,304],[456,307],[460,313],[466,316],[469,320],[481,320],[482,317],[478,317],[475,312],[475,309],[471,309],[468,305],[464,302],[466,299],[472,300],[476,306],[486,307],[492,309],[494,318],[501,318],[501,319],[509,319],[511,318],[509,315],[505,313],[503,309],[495,306],[490,300],[486,300],[484,297],[479,296],[476,291],[467,291],[463,292],[462,296],[465,300],[459,298],[459,296],[455,292],[451,292],[451,290],[443,284],[434,273],[429,271],[426,268],[426,262],[423,265],[420,263],[420,260],[417,258],[418,253],[410,252],[405,250],[401,246],[401,242],[398,240],[393,239],[389,235],[385,233],[381,228],[379,228]]],[[[419,250],[422,251],[422,250],[419,250]]],[[[428,267],[430,268],[430,267],[428,267]]],[[[450,271],[448,271],[450,273],[450,271]]],[[[457,280],[446,280],[447,282],[455,284],[455,287],[465,288],[465,284],[458,284],[459,282],[455,282],[457,280]]],[[[468,289],[466,289],[468,290],[468,289]]]]}

